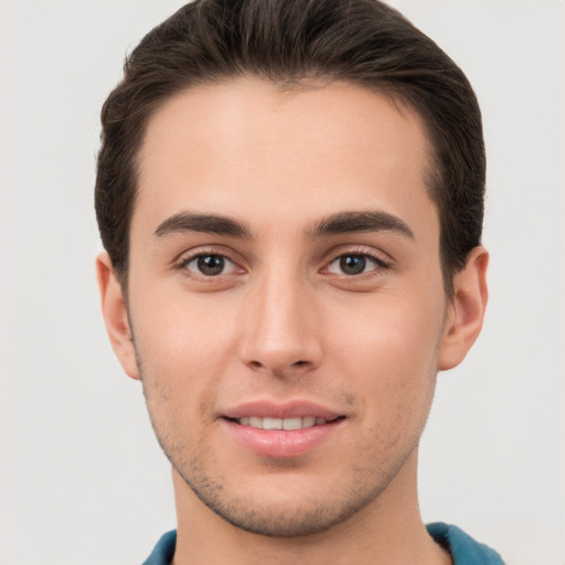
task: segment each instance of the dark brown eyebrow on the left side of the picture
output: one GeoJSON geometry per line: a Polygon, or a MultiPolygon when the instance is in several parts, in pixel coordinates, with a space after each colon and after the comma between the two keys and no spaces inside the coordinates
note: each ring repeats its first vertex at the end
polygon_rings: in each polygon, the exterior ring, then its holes
{"type": "Polygon", "coordinates": [[[168,217],[159,224],[153,235],[156,237],[164,237],[166,235],[183,232],[230,235],[243,239],[250,239],[252,237],[250,231],[243,223],[230,217],[214,214],[189,214],[185,212],[168,217]]]}

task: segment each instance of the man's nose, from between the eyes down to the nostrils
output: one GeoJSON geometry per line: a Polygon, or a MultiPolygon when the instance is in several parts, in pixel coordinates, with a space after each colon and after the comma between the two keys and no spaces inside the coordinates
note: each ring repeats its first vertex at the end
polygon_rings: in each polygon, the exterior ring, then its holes
{"type": "Polygon", "coordinates": [[[300,277],[267,274],[253,285],[245,310],[239,353],[247,366],[278,377],[319,366],[322,343],[316,297],[300,277]]]}

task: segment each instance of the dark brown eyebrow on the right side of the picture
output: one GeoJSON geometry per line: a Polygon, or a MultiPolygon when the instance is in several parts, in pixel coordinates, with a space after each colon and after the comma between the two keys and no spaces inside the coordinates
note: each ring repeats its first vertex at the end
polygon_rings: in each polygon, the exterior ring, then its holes
{"type": "Polygon", "coordinates": [[[396,232],[415,239],[414,233],[399,217],[382,211],[340,212],[316,223],[308,231],[312,238],[355,232],[396,232]]]}

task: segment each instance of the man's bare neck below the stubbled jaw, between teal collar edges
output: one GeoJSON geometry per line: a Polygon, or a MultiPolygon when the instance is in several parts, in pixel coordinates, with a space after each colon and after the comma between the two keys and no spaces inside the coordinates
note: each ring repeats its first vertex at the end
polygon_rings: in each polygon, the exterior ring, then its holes
{"type": "Polygon", "coordinates": [[[173,470],[178,513],[174,565],[449,565],[419,514],[417,451],[388,487],[347,521],[313,535],[274,537],[243,531],[206,508],[173,470]]]}

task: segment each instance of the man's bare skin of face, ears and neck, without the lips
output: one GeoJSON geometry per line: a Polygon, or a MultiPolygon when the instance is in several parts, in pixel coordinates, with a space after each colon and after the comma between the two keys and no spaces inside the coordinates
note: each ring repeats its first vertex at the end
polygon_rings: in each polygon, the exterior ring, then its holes
{"type": "Polygon", "coordinates": [[[450,563],[419,516],[417,448],[437,372],[480,331],[488,255],[477,247],[446,297],[418,117],[350,84],[238,78],[164,104],[139,157],[127,307],[106,254],[98,280],[172,463],[174,563],[450,563]],[[321,228],[343,213],[407,231],[321,228]],[[225,257],[218,275],[199,270],[206,254],[225,257]],[[222,417],[256,399],[344,418],[305,455],[265,457],[222,417]]]}

